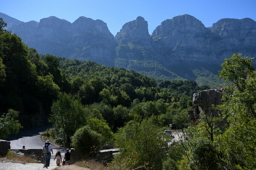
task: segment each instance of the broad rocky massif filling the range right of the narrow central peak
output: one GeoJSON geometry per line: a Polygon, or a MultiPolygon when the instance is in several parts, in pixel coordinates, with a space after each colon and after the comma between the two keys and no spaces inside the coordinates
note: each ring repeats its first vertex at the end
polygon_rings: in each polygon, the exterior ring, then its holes
{"type": "Polygon", "coordinates": [[[179,62],[221,64],[233,53],[256,55],[256,22],[251,19],[222,19],[206,28],[195,17],[182,15],[165,20],[151,37],[167,65],[179,62]],[[250,44],[249,44],[250,43],[250,44]],[[254,48],[253,48],[254,47],[254,48]]]}

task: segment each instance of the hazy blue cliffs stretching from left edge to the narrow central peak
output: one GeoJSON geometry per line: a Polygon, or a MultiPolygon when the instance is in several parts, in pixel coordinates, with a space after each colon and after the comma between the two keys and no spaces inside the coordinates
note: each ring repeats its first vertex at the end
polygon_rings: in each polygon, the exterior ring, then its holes
{"type": "Polygon", "coordinates": [[[52,16],[41,19],[39,23],[12,22],[12,25],[8,30],[20,36],[23,42],[35,48],[39,54],[114,65],[117,43],[102,20],[79,17],[70,23],[52,16]]]}

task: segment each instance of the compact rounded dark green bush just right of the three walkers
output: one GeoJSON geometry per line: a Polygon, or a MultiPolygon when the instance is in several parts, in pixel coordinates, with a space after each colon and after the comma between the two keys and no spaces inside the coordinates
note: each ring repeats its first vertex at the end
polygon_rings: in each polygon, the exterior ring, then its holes
{"type": "Polygon", "coordinates": [[[76,130],[72,136],[72,146],[84,156],[93,152],[101,144],[102,135],[92,130],[89,125],[76,130]]]}

